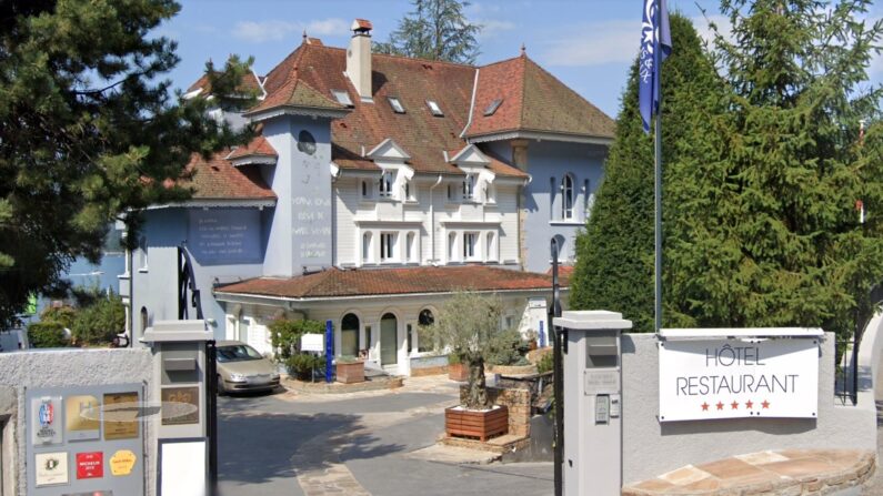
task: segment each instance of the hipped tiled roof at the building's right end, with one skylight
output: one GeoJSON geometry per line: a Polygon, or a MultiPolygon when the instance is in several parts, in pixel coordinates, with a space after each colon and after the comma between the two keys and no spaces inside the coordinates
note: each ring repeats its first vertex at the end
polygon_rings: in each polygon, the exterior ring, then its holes
{"type": "Polygon", "coordinates": [[[538,131],[613,138],[613,119],[526,55],[480,68],[475,109],[466,136],[538,131]],[[491,115],[484,110],[502,103],[491,115]]]}

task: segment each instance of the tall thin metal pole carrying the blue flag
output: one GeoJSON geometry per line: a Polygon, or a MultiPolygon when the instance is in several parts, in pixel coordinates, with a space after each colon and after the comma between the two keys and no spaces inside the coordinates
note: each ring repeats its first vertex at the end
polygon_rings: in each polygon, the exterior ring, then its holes
{"type": "MultiPolygon", "coordinates": [[[[661,79],[662,79],[662,68],[660,67],[662,63],[662,44],[659,43],[659,36],[661,34],[661,22],[662,22],[662,9],[663,3],[659,0],[656,3],[656,9],[654,12],[654,26],[656,29],[656,34],[654,40],[656,42],[655,50],[653,50],[653,67],[656,70],[656,74],[654,77],[654,84],[656,94],[660,94],[660,89],[662,87],[661,79]]],[[[659,103],[656,107],[656,120],[654,128],[654,141],[655,141],[655,160],[654,160],[654,184],[653,184],[653,193],[654,193],[654,202],[655,202],[655,262],[654,262],[654,330],[659,334],[662,330],[662,98],[659,98],[659,103]]]]}

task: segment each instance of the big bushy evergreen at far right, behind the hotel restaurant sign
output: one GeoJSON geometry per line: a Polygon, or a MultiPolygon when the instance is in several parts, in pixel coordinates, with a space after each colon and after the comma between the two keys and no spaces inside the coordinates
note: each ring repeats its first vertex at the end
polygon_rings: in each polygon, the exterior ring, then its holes
{"type": "Polygon", "coordinates": [[[883,21],[856,19],[869,4],[722,1],[729,130],[684,179],[666,252],[668,290],[696,324],[850,332],[870,312],[883,281],[882,93],[863,85],[883,21]]]}

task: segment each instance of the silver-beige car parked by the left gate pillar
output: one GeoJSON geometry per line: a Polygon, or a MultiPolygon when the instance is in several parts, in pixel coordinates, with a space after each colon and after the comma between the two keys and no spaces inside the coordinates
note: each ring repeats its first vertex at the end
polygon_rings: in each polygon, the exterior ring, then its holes
{"type": "Polygon", "coordinates": [[[240,341],[219,341],[218,394],[271,391],[279,386],[279,371],[257,350],[240,341]]]}

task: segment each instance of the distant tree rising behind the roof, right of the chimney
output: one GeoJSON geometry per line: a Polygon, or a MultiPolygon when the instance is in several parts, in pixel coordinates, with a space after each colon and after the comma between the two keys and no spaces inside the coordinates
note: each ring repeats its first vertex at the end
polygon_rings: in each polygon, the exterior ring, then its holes
{"type": "Polygon", "coordinates": [[[481,27],[466,20],[468,1],[413,0],[414,10],[399,21],[390,41],[375,43],[378,53],[473,63],[481,27]]]}

